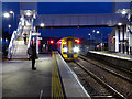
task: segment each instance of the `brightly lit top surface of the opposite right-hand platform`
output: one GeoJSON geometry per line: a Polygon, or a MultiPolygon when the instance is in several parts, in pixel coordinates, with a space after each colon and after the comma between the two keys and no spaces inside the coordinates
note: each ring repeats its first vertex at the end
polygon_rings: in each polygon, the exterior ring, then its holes
{"type": "Polygon", "coordinates": [[[102,54],[102,55],[106,55],[106,56],[116,57],[116,58],[120,58],[120,59],[132,61],[132,55],[128,55],[128,54],[111,53],[111,52],[98,52],[98,51],[89,51],[89,52],[90,53],[96,53],[96,54],[102,54]]]}

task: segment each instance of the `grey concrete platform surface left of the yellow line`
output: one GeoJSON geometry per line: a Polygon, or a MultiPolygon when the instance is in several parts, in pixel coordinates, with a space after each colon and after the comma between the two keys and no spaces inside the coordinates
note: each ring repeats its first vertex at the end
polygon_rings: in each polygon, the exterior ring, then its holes
{"type": "MultiPolygon", "coordinates": [[[[31,61],[3,63],[3,97],[51,97],[52,58],[50,55],[36,61],[37,70],[31,69],[31,61]]],[[[38,99],[38,98],[37,98],[38,99]]]]}

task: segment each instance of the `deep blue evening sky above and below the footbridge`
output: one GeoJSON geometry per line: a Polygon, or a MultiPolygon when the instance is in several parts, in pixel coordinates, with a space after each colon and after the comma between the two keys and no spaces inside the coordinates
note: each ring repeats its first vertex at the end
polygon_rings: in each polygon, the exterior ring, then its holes
{"type": "MultiPolygon", "coordinates": [[[[20,12],[20,3],[4,2],[2,3],[2,12],[9,12],[13,10],[15,18],[20,12]]],[[[99,13],[112,13],[111,2],[40,2],[37,3],[38,14],[99,14],[99,13]]],[[[13,25],[12,16],[10,19],[3,18],[3,28],[8,30],[8,24],[13,25]]],[[[15,19],[16,24],[16,19],[15,19]]],[[[94,29],[53,29],[53,30],[40,30],[42,36],[63,37],[73,35],[76,37],[89,37],[88,33],[91,33],[94,29]]],[[[111,29],[96,29],[103,33],[106,36],[111,32],[111,29]]],[[[11,30],[10,30],[11,32],[11,30]]],[[[95,34],[96,36],[97,34],[95,34]]],[[[97,35],[98,36],[98,35],[97,35]]]]}

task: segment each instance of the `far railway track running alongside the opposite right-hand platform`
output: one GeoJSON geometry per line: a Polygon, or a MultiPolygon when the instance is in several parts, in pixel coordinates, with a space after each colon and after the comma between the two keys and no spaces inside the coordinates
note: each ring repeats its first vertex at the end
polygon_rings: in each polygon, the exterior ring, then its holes
{"type": "MultiPolygon", "coordinates": [[[[101,69],[103,69],[103,70],[106,70],[106,72],[108,72],[108,73],[110,73],[110,74],[112,74],[112,75],[116,75],[116,76],[120,77],[121,79],[127,80],[127,81],[129,81],[129,82],[132,84],[132,79],[131,79],[131,78],[125,77],[124,75],[119,74],[119,73],[117,73],[117,72],[113,70],[113,69],[107,68],[107,67],[105,67],[105,65],[101,66],[101,65],[98,64],[98,63],[91,62],[91,61],[89,61],[87,57],[85,57],[85,56],[82,56],[82,55],[80,55],[79,58],[81,58],[81,59],[84,59],[84,61],[86,61],[86,62],[88,62],[88,63],[90,63],[90,64],[94,64],[94,65],[96,65],[97,67],[99,67],[99,68],[101,68],[101,69]]],[[[116,68],[116,69],[117,69],[117,68],[116,68]]],[[[123,70],[123,72],[124,72],[124,70],[123,70]]],[[[128,74],[127,72],[124,72],[124,73],[128,74]]],[[[131,77],[131,74],[130,74],[130,73],[129,73],[129,76],[131,77]]]]}

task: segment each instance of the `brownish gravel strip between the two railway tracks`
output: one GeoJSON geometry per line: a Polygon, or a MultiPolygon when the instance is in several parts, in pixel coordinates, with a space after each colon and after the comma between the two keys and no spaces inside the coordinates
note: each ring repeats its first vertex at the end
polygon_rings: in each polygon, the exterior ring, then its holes
{"type": "Polygon", "coordinates": [[[82,64],[87,69],[96,74],[98,77],[100,77],[103,81],[112,86],[114,89],[117,89],[119,92],[124,95],[127,98],[131,99],[132,98],[132,84],[106,72],[100,69],[99,67],[85,62],[82,59],[78,59],[80,64],[82,64]]]}

